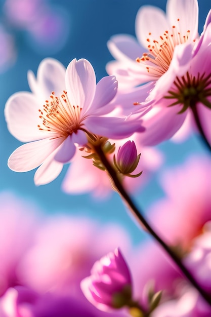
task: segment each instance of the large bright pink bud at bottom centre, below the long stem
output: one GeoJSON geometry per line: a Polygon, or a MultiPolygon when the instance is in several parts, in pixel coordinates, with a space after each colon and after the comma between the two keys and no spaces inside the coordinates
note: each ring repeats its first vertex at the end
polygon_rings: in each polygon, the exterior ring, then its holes
{"type": "Polygon", "coordinates": [[[87,299],[98,309],[121,308],[132,298],[132,280],[120,250],[115,249],[97,261],[91,275],[80,287],[87,299]]]}

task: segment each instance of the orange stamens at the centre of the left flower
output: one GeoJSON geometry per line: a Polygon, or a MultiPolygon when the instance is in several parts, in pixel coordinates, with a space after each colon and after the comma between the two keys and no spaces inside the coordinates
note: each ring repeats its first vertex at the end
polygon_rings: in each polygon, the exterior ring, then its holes
{"type": "Polygon", "coordinates": [[[50,101],[46,100],[43,109],[39,109],[42,124],[37,126],[38,129],[54,132],[57,137],[67,137],[76,132],[81,125],[82,108],[70,104],[66,91],[63,91],[61,98],[56,97],[52,92],[50,98],[50,101]]]}

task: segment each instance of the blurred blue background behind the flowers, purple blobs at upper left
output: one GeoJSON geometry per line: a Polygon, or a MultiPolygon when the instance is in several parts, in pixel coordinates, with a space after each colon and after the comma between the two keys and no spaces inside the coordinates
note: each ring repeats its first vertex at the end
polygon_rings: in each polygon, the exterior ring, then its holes
{"type": "MultiPolygon", "coordinates": [[[[135,36],[135,18],[142,5],[159,6],[165,10],[165,0],[1,0],[0,1],[0,191],[10,192],[36,206],[46,214],[72,214],[91,217],[102,223],[121,224],[134,244],[143,234],[125,211],[116,193],[103,200],[90,193],[71,195],[61,190],[67,172],[65,166],[52,183],[36,187],[34,171],[16,173],[7,166],[10,154],[21,145],[7,130],[4,107],[15,92],[29,91],[27,71],[35,74],[41,60],[53,57],[65,67],[73,59],[88,59],[97,81],[107,75],[105,65],[112,60],[106,43],[114,34],[135,36]]],[[[199,0],[199,33],[210,4],[199,0]]],[[[206,155],[196,135],[185,142],[172,140],[156,147],[162,164],[153,171],[142,187],[134,191],[134,199],[147,212],[150,205],[164,195],[160,186],[163,172],[175,168],[191,155],[206,155]]],[[[141,157],[142,160],[142,157],[141,157]]],[[[144,172],[143,172],[144,173],[144,172]]],[[[147,215],[150,218],[150,215],[147,215]]]]}

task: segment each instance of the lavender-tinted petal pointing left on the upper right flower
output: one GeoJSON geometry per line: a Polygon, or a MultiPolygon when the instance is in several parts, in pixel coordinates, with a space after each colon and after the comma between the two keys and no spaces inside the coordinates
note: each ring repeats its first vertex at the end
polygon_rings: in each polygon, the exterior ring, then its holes
{"type": "Polygon", "coordinates": [[[124,62],[128,59],[135,61],[145,51],[135,37],[125,34],[113,35],[107,42],[107,46],[115,59],[124,62]]]}

